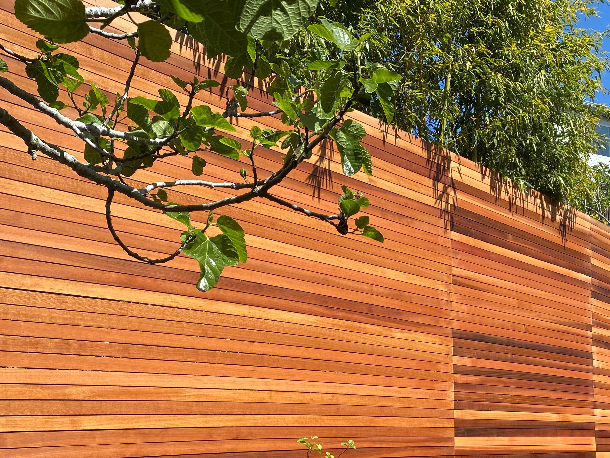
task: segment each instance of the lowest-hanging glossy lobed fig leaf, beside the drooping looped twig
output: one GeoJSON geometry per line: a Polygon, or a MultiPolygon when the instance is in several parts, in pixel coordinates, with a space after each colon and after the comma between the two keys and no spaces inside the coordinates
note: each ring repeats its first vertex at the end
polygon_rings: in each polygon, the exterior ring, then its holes
{"type": "MultiPolygon", "coordinates": [[[[195,229],[195,240],[184,247],[182,253],[199,263],[201,275],[197,281],[197,289],[209,291],[218,283],[218,278],[226,266],[237,266],[239,255],[235,252],[231,239],[224,234],[212,238],[201,230],[195,229]]],[[[182,234],[185,239],[187,234],[182,234]]]]}

